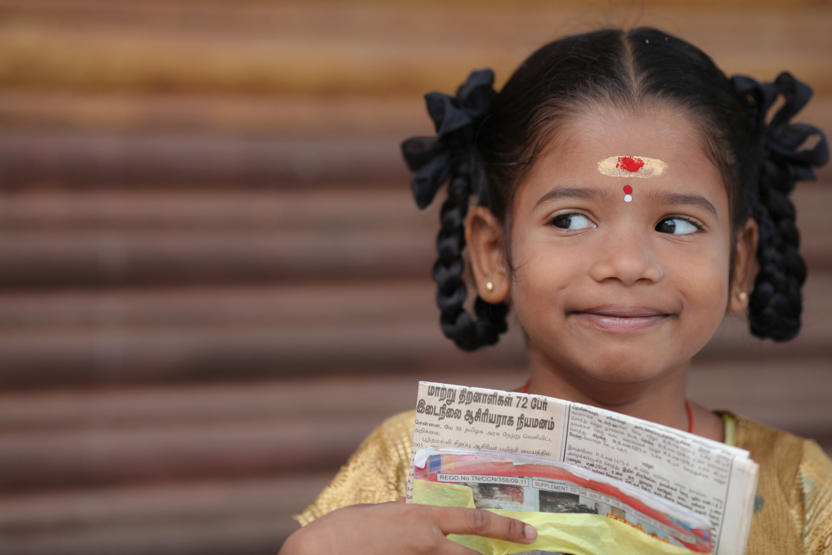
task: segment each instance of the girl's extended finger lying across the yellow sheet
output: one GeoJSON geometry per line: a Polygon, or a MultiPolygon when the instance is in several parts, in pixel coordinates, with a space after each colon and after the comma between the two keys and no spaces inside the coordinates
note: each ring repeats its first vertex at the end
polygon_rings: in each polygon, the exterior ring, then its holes
{"type": "Polygon", "coordinates": [[[532,543],[537,538],[531,524],[477,508],[443,508],[437,522],[444,534],[473,534],[514,543],[532,543]]]}

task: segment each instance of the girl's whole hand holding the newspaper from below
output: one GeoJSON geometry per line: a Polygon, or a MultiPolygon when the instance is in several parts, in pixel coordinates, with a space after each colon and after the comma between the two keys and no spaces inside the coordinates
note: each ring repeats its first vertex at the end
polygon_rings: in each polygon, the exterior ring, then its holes
{"type": "Polygon", "coordinates": [[[449,533],[532,543],[530,524],[476,508],[404,503],[339,508],[293,533],[278,555],[477,555],[449,533]]]}

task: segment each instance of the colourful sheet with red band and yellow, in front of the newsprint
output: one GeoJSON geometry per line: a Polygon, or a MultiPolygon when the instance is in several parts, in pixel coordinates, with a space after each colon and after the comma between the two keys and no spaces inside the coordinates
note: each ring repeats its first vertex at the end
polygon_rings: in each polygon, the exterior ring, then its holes
{"type": "MultiPolygon", "coordinates": [[[[555,538],[553,547],[570,548],[572,544],[567,536],[570,533],[581,535],[583,528],[585,533],[597,536],[599,530],[603,530],[607,539],[622,540],[619,547],[635,541],[640,545],[637,548],[640,553],[655,553],[656,546],[661,553],[712,551],[711,523],[706,518],[624,482],[571,464],[447,448],[418,451],[414,467],[414,503],[469,506],[502,514],[521,513],[519,517],[507,516],[526,522],[533,519],[532,523],[538,529],[538,542],[542,539],[541,528],[551,528],[550,533],[556,536],[560,534],[562,541],[555,538]]],[[[598,549],[605,551],[602,547],[605,538],[595,539],[598,549]]],[[[583,542],[582,547],[588,548],[591,544],[592,541],[583,542]]],[[[537,543],[535,547],[539,547],[537,543]]],[[[492,553],[488,549],[478,550],[492,553]]],[[[574,549],[567,553],[573,552],[574,549]]],[[[587,553],[592,553],[592,548],[587,553]]]]}

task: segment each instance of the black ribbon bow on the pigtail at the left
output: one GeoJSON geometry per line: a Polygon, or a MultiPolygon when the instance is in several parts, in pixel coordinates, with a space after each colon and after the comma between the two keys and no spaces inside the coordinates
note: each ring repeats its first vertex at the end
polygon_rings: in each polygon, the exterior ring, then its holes
{"type": "Polygon", "coordinates": [[[425,95],[437,136],[415,136],[402,143],[404,160],[416,174],[410,186],[419,208],[433,201],[451,173],[471,171],[466,165],[471,163],[474,136],[496,94],[493,83],[494,72],[483,69],[468,76],[456,97],[441,92],[425,95]]]}

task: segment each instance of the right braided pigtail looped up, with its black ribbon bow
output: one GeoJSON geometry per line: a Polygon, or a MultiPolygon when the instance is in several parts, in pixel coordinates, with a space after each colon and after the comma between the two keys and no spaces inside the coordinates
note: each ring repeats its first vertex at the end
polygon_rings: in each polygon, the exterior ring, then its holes
{"type": "Polygon", "coordinates": [[[817,127],[790,123],[792,116],[809,102],[812,91],[789,73],[781,73],[772,83],[760,84],[743,76],[732,77],[731,81],[753,118],[757,140],[751,214],[760,229],[760,271],[749,299],[751,333],[786,341],[800,331],[800,288],[806,280],[795,206],[789,195],[796,181],[815,179],[812,166],[829,161],[829,146],[824,132],[817,127]],[[766,125],[766,112],[780,95],[785,104],[766,125]],[[798,150],[810,136],[820,140],[811,149],[798,150]]]}

